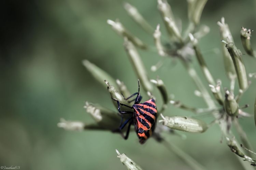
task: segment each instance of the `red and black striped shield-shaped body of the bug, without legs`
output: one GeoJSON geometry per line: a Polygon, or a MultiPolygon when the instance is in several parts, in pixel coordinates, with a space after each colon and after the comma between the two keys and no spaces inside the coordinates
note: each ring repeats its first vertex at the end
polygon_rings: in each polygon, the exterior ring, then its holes
{"type": "Polygon", "coordinates": [[[149,138],[154,129],[156,122],[156,103],[152,98],[144,103],[134,104],[134,126],[139,137],[139,142],[143,144],[149,138]]]}

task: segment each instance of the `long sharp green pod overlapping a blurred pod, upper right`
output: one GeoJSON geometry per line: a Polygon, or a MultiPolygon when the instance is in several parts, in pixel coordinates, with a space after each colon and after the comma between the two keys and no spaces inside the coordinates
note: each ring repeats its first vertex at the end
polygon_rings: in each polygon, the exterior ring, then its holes
{"type": "Polygon", "coordinates": [[[239,49],[237,49],[234,43],[226,43],[226,48],[228,49],[228,52],[231,55],[234,67],[236,69],[239,87],[240,89],[244,90],[248,87],[248,81],[245,66],[242,60],[242,53],[239,49]]]}

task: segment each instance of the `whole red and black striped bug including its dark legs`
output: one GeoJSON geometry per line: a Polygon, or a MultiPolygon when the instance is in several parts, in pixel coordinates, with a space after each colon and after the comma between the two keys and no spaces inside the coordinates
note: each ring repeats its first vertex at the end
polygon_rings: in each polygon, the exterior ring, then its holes
{"type": "MultiPolygon", "coordinates": [[[[148,101],[145,101],[144,103],[140,103],[142,96],[140,96],[140,83],[138,80],[138,85],[139,85],[139,90],[138,92],[134,93],[128,98],[125,98],[125,100],[130,99],[131,97],[137,95],[134,104],[132,107],[120,103],[118,100],[113,99],[117,102],[118,105],[118,112],[122,114],[133,114],[130,118],[128,118],[124,123],[123,123],[123,116],[121,118],[121,123],[119,126],[119,129],[122,130],[127,123],[128,124],[128,129],[126,132],[126,135],[124,136],[125,139],[128,138],[129,132],[130,132],[130,127],[132,124],[134,124],[135,131],[137,133],[137,136],[139,137],[139,142],[141,144],[145,143],[145,141],[152,135],[154,132],[155,126],[156,126],[156,114],[157,114],[157,109],[156,109],[156,103],[153,98],[151,98],[148,101]],[[121,111],[120,110],[120,105],[132,108],[134,112],[131,111],[121,111]]],[[[133,100],[131,100],[133,101],[133,100]]],[[[129,102],[131,102],[129,101],[129,102]]]]}

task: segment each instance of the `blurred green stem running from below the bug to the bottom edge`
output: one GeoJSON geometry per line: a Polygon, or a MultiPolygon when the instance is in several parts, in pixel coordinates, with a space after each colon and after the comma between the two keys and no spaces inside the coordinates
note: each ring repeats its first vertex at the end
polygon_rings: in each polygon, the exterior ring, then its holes
{"type": "Polygon", "coordinates": [[[203,167],[199,162],[197,162],[193,157],[182,151],[177,146],[173,145],[173,143],[166,141],[165,139],[162,140],[163,145],[171,152],[175,153],[179,156],[184,162],[186,162],[191,168],[195,170],[205,170],[206,168],[203,167]]]}

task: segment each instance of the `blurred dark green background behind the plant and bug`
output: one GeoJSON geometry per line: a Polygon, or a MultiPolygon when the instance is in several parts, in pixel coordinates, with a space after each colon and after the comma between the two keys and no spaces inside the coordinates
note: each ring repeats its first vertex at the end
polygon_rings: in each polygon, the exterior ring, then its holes
{"type": "MultiPolygon", "coordinates": [[[[96,82],[82,66],[87,59],[124,81],[130,91],[137,91],[137,78],[123,48],[120,38],[106,23],[119,18],[124,26],[151,46],[153,38],[133,22],[120,0],[34,0],[0,2],[1,13],[1,107],[0,107],[0,166],[20,166],[20,169],[126,169],[115,149],[126,153],[144,169],[190,169],[175,154],[155,140],[140,145],[135,133],[128,140],[110,132],[70,132],[57,128],[61,117],[67,120],[93,122],[83,108],[85,101],[99,103],[114,109],[106,88],[96,82]]],[[[128,1],[136,6],[152,27],[163,26],[157,10],[157,1],[128,1]]],[[[185,0],[169,1],[175,17],[187,26],[185,0]]],[[[255,1],[209,0],[201,23],[211,32],[199,42],[205,60],[214,77],[229,87],[220,49],[217,21],[222,16],[229,24],[234,41],[242,53],[241,26],[255,29],[255,1]]],[[[161,27],[164,35],[165,31],[161,27]]],[[[256,38],[252,33],[253,46],[256,38]]],[[[157,72],[150,67],[160,57],[152,51],[139,50],[150,78],[157,75],[165,82],[168,92],[175,94],[190,106],[205,108],[204,101],[194,95],[196,86],[179,63],[171,59],[157,72]]],[[[244,55],[247,73],[255,72],[255,59],[244,55]]],[[[193,64],[205,85],[200,68],[193,64]]],[[[255,80],[241,100],[250,104],[245,112],[253,114],[256,96],[255,80]]],[[[236,84],[236,89],[238,85],[236,84]]],[[[142,93],[143,96],[146,94],[142,93]]],[[[155,96],[160,99],[157,89],[155,96]]],[[[145,99],[145,98],[144,98],[145,99]]],[[[161,100],[158,100],[161,103],[161,100]]],[[[170,106],[166,115],[193,116],[193,113],[170,106]]],[[[212,116],[197,117],[206,122],[212,116]]],[[[256,148],[256,129],[253,118],[239,120],[249,140],[256,148]]],[[[233,129],[233,128],[232,128],[233,129]]],[[[182,133],[182,132],[181,132],[182,133]]],[[[163,134],[170,142],[182,148],[207,169],[242,169],[236,155],[226,143],[221,143],[218,125],[203,134],[188,134],[186,140],[179,136],[163,134]]],[[[225,141],[225,140],[224,140],[225,141]]],[[[248,163],[250,164],[250,163],[248,163]]]]}

